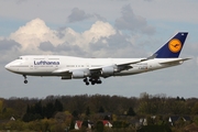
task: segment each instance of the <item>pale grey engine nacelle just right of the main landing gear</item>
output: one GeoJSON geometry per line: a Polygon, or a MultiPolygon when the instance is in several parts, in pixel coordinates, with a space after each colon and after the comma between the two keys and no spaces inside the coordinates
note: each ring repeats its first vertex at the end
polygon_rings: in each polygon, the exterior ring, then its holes
{"type": "Polygon", "coordinates": [[[107,66],[102,67],[101,75],[113,75],[114,73],[119,72],[118,66],[107,66]]]}

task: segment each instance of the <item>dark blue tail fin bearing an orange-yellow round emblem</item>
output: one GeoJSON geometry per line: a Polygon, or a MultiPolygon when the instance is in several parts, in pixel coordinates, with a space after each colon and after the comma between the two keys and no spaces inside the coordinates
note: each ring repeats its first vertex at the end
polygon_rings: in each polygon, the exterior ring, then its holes
{"type": "Polygon", "coordinates": [[[155,58],[176,58],[179,56],[188,32],[179,32],[162,46],[153,56],[155,58]]]}

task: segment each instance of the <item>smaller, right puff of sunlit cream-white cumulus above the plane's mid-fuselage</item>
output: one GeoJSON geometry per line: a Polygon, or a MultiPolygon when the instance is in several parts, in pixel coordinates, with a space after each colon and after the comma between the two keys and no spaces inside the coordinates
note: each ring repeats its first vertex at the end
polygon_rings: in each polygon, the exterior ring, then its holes
{"type": "Polygon", "coordinates": [[[91,28],[82,33],[77,33],[73,29],[67,28],[62,31],[64,43],[77,45],[89,52],[90,44],[97,43],[101,37],[109,37],[116,34],[116,30],[108,22],[97,21],[91,28]]]}

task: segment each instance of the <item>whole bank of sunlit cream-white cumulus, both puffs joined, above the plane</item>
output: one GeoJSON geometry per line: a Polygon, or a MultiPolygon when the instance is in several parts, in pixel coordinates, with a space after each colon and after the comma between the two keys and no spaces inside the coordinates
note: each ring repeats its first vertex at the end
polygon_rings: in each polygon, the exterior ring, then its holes
{"type": "Polygon", "coordinates": [[[38,47],[41,43],[45,42],[50,42],[54,47],[63,44],[67,45],[67,47],[76,45],[81,51],[90,52],[90,44],[97,43],[101,37],[108,38],[116,34],[112,25],[102,21],[97,21],[89,30],[82,33],[75,32],[70,28],[59,32],[62,37],[58,36],[58,31],[50,29],[43,20],[34,19],[12,33],[10,38],[21,44],[21,52],[26,53],[43,52],[38,47]]]}

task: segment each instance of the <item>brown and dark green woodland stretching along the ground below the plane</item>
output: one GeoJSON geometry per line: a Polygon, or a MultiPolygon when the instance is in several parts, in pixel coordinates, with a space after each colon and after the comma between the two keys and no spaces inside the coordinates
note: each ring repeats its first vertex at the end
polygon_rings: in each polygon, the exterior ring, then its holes
{"type": "MultiPolygon", "coordinates": [[[[0,129],[23,131],[74,130],[75,121],[92,121],[95,130],[101,120],[109,120],[113,130],[136,131],[132,121],[146,118],[151,127],[169,128],[168,117],[188,116],[193,122],[180,120],[172,130],[183,130],[190,123],[198,125],[198,99],[183,97],[151,96],[146,92],[136,97],[79,95],[47,96],[38,98],[0,99],[0,129]],[[151,119],[156,116],[155,120],[151,119]],[[14,121],[13,121],[14,120],[14,121]]],[[[87,125],[87,124],[86,124],[87,125]]],[[[101,124],[100,124],[101,125],[101,124]]],[[[84,128],[82,128],[84,129],[84,128]]],[[[108,131],[110,131],[108,129],[108,131]]],[[[112,130],[111,130],[112,131],[112,130]]]]}

